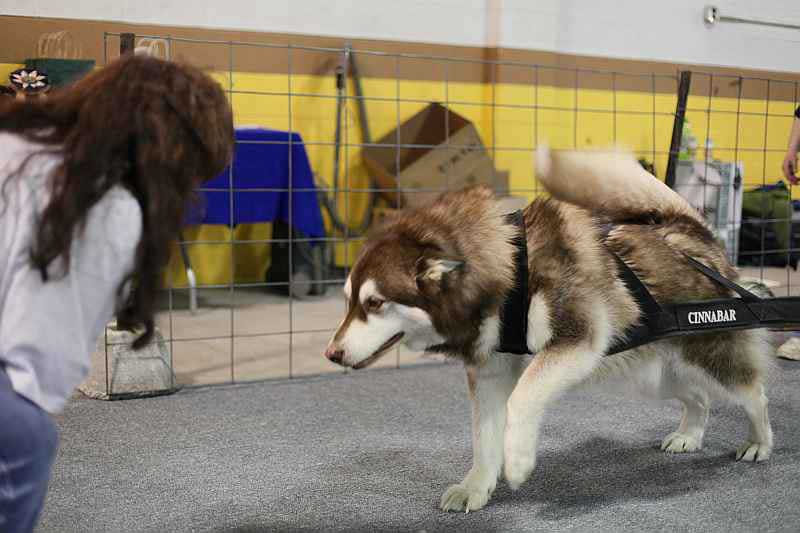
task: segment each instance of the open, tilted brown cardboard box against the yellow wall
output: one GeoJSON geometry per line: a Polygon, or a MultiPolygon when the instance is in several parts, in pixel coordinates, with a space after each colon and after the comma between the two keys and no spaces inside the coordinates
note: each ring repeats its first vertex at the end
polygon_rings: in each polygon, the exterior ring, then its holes
{"type": "Polygon", "coordinates": [[[508,174],[497,172],[475,125],[437,103],[365,147],[362,157],[393,206],[416,207],[481,183],[508,189],[508,174]]]}

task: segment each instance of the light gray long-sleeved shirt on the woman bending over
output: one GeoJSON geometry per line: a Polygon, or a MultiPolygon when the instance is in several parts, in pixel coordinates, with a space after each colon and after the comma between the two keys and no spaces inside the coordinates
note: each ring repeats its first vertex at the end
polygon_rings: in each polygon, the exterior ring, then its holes
{"type": "Polygon", "coordinates": [[[119,285],[133,268],[142,234],[142,213],[127,190],[111,189],[73,241],[69,274],[43,282],[29,254],[58,159],[36,156],[9,181],[38,149],[0,133],[0,362],[17,393],[58,413],[86,377],[96,340],[117,308],[119,285]]]}

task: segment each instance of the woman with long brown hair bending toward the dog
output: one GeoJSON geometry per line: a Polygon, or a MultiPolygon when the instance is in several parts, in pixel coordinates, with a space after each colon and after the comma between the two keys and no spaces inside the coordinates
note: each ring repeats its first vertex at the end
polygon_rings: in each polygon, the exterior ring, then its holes
{"type": "Polygon", "coordinates": [[[47,99],[0,101],[0,530],[33,529],[61,411],[105,324],[153,336],[193,190],[233,153],[222,88],[129,55],[47,99]]]}

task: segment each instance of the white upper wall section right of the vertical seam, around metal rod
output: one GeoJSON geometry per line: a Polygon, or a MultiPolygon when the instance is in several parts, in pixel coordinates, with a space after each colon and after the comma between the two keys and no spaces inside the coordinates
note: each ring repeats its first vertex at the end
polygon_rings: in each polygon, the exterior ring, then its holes
{"type": "Polygon", "coordinates": [[[719,22],[724,15],[800,25],[797,0],[504,0],[501,44],[603,57],[800,72],[800,30],[719,22]]]}

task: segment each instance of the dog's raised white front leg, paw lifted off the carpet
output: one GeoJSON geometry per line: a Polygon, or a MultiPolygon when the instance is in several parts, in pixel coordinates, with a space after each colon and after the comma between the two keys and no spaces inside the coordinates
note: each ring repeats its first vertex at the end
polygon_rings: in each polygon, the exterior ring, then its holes
{"type": "Polygon", "coordinates": [[[549,401],[586,379],[600,360],[590,343],[555,345],[534,357],[508,400],[505,478],[513,490],[536,465],[539,425],[549,401]]]}

